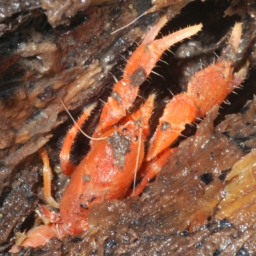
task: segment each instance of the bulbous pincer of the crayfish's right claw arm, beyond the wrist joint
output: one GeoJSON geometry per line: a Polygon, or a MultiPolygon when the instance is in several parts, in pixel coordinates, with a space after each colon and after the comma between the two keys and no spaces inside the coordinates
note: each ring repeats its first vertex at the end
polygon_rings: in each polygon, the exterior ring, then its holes
{"type": "Polygon", "coordinates": [[[196,72],[188,83],[188,95],[197,106],[198,117],[206,115],[214,105],[220,105],[237,85],[243,82],[247,72],[244,68],[239,77],[233,74],[236,53],[242,35],[242,24],[237,23],[232,29],[228,45],[215,64],[196,72]],[[239,84],[238,84],[239,83],[239,84]]]}

